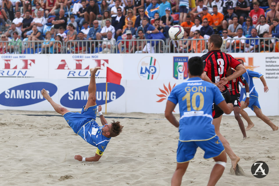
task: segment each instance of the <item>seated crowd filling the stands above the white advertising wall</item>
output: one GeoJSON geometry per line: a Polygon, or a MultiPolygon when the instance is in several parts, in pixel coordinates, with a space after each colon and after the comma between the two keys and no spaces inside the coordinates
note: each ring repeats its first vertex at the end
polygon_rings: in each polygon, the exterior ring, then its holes
{"type": "Polygon", "coordinates": [[[170,42],[171,52],[199,53],[212,34],[221,35],[225,52],[278,52],[277,39],[263,39],[279,37],[278,1],[3,0],[0,10],[0,53],[164,52],[150,39],[170,42]],[[188,40],[169,39],[174,24],[188,40]]]}

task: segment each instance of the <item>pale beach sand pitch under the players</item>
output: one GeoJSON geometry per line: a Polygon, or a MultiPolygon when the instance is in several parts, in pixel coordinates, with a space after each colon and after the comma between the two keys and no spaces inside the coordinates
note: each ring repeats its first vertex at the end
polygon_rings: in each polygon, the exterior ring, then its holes
{"type": "MultiPolygon", "coordinates": [[[[123,133],[112,138],[99,162],[79,162],[74,155],[94,156],[96,147],[74,134],[56,112],[1,110],[0,185],[170,185],[176,168],[177,128],[162,114],[109,113],[105,117],[119,120],[123,133]]],[[[270,118],[278,125],[278,116],[270,118]]],[[[219,186],[279,185],[279,131],[273,132],[256,117],[251,119],[255,127],[242,140],[234,117],[223,117],[221,133],[241,158],[239,165],[246,176],[231,175],[228,158],[219,186]],[[266,177],[252,176],[256,161],[269,166],[266,177]]],[[[99,118],[97,122],[101,123],[99,118]]],[[[203,159],[198,148],[182,185],[206,185],[214,164],[213,159],[203,159]]]]}

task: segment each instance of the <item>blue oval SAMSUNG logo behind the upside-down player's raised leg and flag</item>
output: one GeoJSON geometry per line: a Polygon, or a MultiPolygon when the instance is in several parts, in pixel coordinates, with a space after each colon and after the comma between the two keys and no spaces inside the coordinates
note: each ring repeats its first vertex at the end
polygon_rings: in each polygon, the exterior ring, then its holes
{"type": "MultiPolygon", "coordinates": [[[[96,103],[97,105],[105,104],[105,83],[96,84],[96,103]]],[[[108,83],[108,97],[107,103],[119,98],[125,91],[125,88],[121,85],[114,83],[108,83]]],[[[78,87],[69,91],[61,99],[60,103],[68,108],[82,108],[86,105],[88,99],[88,85],[78,87]]]]}

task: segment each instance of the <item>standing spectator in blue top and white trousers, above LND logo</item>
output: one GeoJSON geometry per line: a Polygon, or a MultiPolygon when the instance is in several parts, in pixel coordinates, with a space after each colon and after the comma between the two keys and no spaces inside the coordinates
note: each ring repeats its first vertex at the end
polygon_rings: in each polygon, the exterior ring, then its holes
{"type": "MultiPolygon", "coordinates": [[[[158,29],[155,28],[153,25],[148,23],[148,18],[144,17],[142,19],[142,26],[144,28],[145,38],[150,38],[151,33],[159,33],[158,29]]],[[[142,53],[155,53],[154,46],[150,44],[150,42],[147,42],[144,48],[142,49],[142,53]]]]}

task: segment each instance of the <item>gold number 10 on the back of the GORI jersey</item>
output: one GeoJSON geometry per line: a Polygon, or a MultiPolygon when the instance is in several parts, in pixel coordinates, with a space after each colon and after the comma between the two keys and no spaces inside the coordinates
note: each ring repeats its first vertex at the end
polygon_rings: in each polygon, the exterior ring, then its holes
{"type": "Polygon", "coordinates": [[[190,92],[187,92],[187,94],[185,96],[182,97],[182,101],[184,101],[186,99],[187,101],[187,111],[191,111],[191,105],[193,107],[194,110],[201,110],[203,108],[204,105],[204,97],[203,94],[201,92],[195,92],[192,96],[192,99],[190,100],[190,92]],[[196,98],[199,98],[199,106],[197,107],[196,105],[196,98]]]}

